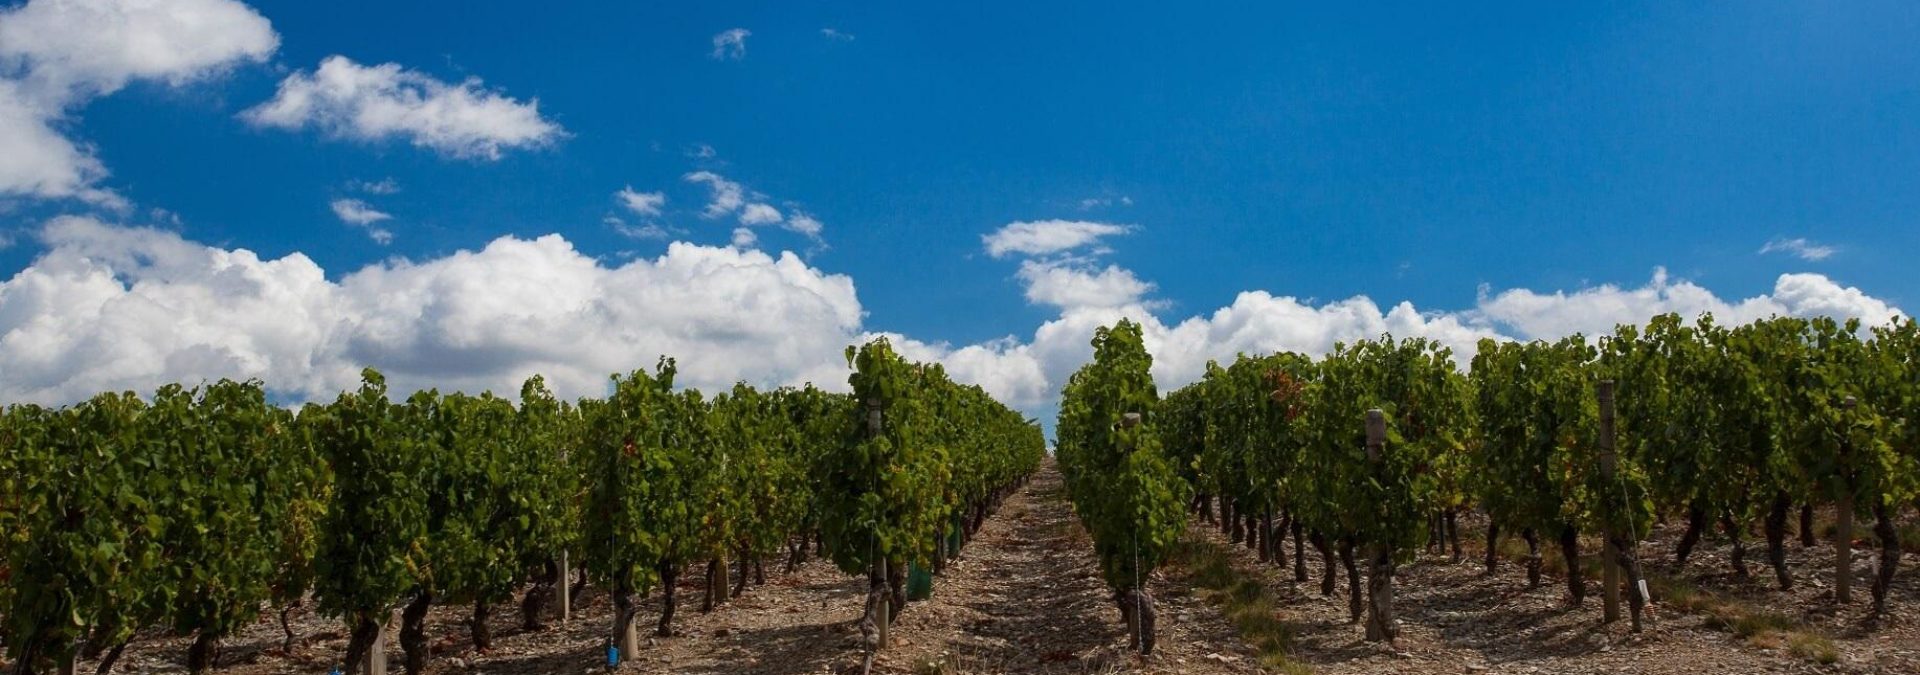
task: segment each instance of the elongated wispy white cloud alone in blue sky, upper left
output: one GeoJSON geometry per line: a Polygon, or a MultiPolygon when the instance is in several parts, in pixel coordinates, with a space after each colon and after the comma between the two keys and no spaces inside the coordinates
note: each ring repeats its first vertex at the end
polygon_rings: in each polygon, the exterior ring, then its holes
{"type": "Polygon", "coordinates": [[[463,159],[499,159],[503,150],[545,148],[566,134],[540,115],[540,100],[522,104],[480,79],[449,84],[399,63],[361,65],[344,56],[328,56],[313,73],[288,75],[273,100],[242,117],[257,127],[315,127],[363,142],[405,138],[463,159]]]}

